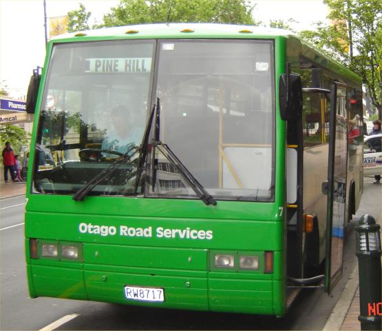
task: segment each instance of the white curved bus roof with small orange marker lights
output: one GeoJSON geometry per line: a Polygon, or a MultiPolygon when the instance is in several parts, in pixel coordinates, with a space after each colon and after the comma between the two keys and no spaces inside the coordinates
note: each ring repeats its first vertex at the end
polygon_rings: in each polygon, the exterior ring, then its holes
{"type": "Polygon", "coordinates": [[[248,25],[220,23],[152,23],[133,26],[116,26],[61,34],[50,39],[52,42],[97,41],[118,39],[198,39],[198,38],[232,38],[232,39],[276,39],[284,37],[293,41],[299,54],[308,59],[320,59],[320,66],[335,70],[341,76],[360,84],[361,78],[346,66],[331,59],[314,46],[301,41],[293,32],[279,28],[265,28],[248,25]]]}

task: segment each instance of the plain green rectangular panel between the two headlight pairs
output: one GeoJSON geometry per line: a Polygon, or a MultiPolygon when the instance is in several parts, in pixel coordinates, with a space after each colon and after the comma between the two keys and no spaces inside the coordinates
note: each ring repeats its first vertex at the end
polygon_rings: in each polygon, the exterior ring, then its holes
{"type": "Polygon", "coordinates": [[[86,263],[206,270],[206,250],[85,244],[86,263]]]}

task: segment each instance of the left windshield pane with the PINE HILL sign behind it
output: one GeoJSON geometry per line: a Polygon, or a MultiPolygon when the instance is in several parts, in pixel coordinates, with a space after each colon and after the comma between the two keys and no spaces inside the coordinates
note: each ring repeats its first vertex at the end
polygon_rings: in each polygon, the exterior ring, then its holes
{"type": "MultiPolygon", "coordinates": [[[[34,190],[73,194],[142,141],[154,41],[55,45],[47,72],[34,160],[34,190]]],[[[132,158],[94,195],[134,192],[132,158]]]]}

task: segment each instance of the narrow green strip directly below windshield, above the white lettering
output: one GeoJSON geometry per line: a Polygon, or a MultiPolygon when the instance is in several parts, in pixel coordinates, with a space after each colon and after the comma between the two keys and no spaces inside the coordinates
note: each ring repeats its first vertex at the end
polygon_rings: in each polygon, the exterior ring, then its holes
{"type": "Polygon", "coordinates": [[[217,205],[205,205],[201,200],[194,199],[85,197],[84,201],[74,201],[71,195],[58,194],[30,194],[29,198],[25,206],[27,212],[82,214],[82,221],[85,222],[89,221],[89,214],[250,221],[282,220],[279,217],[279,205],[253,201],[218,201],[217,205]]]}

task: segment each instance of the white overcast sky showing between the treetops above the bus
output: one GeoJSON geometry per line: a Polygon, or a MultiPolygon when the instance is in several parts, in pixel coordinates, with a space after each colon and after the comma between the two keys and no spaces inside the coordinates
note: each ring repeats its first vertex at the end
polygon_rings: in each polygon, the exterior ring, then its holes
{"type": "MultiPolygon", "coordinates": [[[[119,0],[46,0],[47,17],[64,16],[77,10],[79,3],[92,12],[91,23],[101,22],[103,15],[119,0]]],[[[175,0],[176,2],[176,0],[175,0]]],[[[293,28],[312,28],[315,21],[325,21],[326,6],[321,0],[254,0],[257,21],[293,18],[293,28]]],[[[49,24],[49,19],[48,19],[49,24]]],[[[0,0],[0,83],[14,98],[26,94],[32,70],[43,66],[45,32],[43,0],[0,0]]]]}

